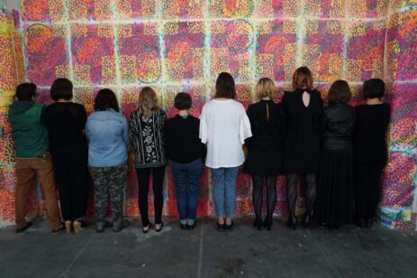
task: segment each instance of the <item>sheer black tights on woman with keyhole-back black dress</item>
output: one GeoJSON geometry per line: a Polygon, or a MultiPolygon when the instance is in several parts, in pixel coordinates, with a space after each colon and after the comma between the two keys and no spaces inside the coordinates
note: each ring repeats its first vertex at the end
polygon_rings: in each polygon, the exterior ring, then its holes
{"type": "MultiPolygon", "coordinates": [[[[286,176],[286,202],[291,217],[295,217],[295,206],[297,201],[297,185],[300,179],[305,181],[305,201],[306,215],[311,216],[313,213],[314,202],[317,196],[317,182],[315,173],[295,174],[291,173],[286,176]]],[[[304,185],[304,182],[301,182],[304,185]]]]}

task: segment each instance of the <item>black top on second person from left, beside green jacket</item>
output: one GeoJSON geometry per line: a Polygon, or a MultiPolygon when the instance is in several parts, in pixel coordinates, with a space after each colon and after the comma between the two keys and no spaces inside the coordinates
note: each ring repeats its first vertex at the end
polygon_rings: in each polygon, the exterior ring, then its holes
{"type": "Polygon", "coordinates": [[[43,121],[50,136],[50,150],[86,145],[86,108],[73,102],[56,102],[46,107],[43,121]]]}

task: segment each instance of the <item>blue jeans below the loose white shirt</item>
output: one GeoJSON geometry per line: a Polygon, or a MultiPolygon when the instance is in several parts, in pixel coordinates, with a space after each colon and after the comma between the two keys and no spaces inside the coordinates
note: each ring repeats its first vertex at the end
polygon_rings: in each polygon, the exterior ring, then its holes
{"type": "Polygon", "coordinates": [[[239,167],[211,168],[213,176],[214,208],[218,218],[231,218],[236,201],[236,178],[239,167]],[[224,215],[224,212],[226,214],[224,215]]]}

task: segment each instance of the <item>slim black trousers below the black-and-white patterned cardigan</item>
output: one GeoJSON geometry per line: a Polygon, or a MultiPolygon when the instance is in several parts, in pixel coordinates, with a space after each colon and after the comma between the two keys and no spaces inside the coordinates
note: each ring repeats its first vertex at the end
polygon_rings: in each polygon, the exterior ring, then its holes
{"type": "Polygon", "coordinates": [[[148,215],[148,193],[150,191],[150,171],[152,172],[152,190],[154,195],[155,223],[162,222],[162,207],[164,197],[162,190],[164,188],[165,165],[159,167],[137,168],[139,183],[139,209],[141,210],[141,221],[143,226],[150,224],[148,215]]]}

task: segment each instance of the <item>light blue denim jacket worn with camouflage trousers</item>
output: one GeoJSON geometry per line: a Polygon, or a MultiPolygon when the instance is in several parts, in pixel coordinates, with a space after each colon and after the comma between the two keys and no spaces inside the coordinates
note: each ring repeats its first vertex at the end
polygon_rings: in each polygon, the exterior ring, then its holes
{"type": "Polygon", "coordinates": [[[86,121],[86,137],[91,167],[112,167],[127,161],[129,128],[122,114],[113,109],[94,112],[86,121]]]}

